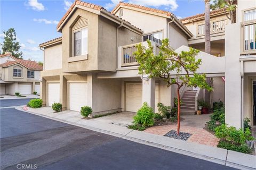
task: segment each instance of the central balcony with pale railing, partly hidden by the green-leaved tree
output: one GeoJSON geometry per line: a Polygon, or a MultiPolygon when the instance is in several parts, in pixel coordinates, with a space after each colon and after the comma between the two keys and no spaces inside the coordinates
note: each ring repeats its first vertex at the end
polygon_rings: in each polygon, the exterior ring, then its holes
{"type": "MultiPolygon", "coordinates": [[[[126,69],[137,69],[138,63],[136,61],[136,58],[134,56],[134,52],[136,52],[137,44],[130,44],[122,47],[118,47],[118,68],[121,70],[126,69]]],[[[147,42],[141,42],[143,46],[148,46],[147,42]]],[[[154,54],[159,54],[159,47],[161,45],[156,44],[155,42],[151,41],[151,45],[154,47],[154,54]]]]}

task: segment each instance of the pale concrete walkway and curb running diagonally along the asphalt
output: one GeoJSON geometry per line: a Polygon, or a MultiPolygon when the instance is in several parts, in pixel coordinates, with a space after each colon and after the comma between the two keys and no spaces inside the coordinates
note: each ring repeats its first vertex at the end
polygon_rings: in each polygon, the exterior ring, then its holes
{"type": "MultiPolygon", "coordinates": [[[[17,109],[24,111],[21,107],[17,107],[17,109]]],[[[74,111],[54,113],[51,107],[42,107],[38,109],[28,108],[26,112],[230,167],[239,169],[256,168],[256,157],[253,155],[131,130],[122,126],[102,123],[94,119],[85,120],[78,112],[74,111]]]]}

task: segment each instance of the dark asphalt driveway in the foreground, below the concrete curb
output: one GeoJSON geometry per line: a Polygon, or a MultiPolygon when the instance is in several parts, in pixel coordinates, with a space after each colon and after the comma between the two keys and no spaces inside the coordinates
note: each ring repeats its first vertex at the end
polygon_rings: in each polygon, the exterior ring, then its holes
{"type": "Polygon", "coordinates": [[[0,116],[1,169],[233,169],[14,108],[0,116]]]}

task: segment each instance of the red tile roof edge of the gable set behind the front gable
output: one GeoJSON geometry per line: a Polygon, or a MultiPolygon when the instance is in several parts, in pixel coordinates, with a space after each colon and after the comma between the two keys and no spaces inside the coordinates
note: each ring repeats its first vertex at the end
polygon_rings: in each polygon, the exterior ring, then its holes
{"type": "Polygon", "coordinates": [[[152,11],[152,12],[156,12],[156,13],[160,13],[160,14],[166,14],[167,16],[171,16],[173,14],[173,13],[171,13],[169,11],[158,10],[156,8],[151,8],[151,7],[146,7],[146,6],[141,6],[141,5],[131,4],[131,3],[124,3],[122,1],[119,2],[119,4],[117,4],[115,6],[115,8],[111,11],[111,13],[113,13],[116,10],[116,8],[118,8],[121,5],[131,6],[131,7],[139,8],[141,10],[152,11]]]}

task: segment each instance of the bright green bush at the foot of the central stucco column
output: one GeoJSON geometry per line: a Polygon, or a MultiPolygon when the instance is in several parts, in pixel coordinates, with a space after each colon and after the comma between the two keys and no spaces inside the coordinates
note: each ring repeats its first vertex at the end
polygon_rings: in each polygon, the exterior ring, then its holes
{"type": "Polygon", "coordinates": [[[137,115],[133,117],[134,124],[139,124],[142,127],[154,125],[154,112],[151,107],[145,102],[143,106],[138,110],[137,115]]]}

